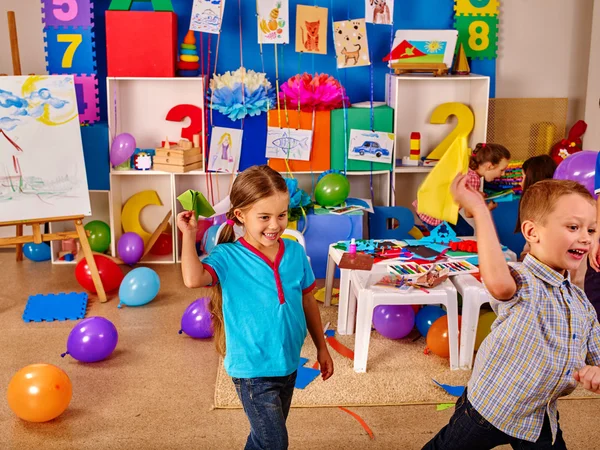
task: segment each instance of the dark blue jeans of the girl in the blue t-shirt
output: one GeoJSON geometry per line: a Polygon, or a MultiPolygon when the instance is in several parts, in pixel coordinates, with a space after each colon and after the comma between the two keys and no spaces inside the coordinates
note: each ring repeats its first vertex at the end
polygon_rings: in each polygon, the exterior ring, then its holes
{"type": "Polygon", "coordinates": [[[245,450],[288,448],[285,420],[290,412],[296,374],[284,377],[232,378],[250,422],[245,450]]]}

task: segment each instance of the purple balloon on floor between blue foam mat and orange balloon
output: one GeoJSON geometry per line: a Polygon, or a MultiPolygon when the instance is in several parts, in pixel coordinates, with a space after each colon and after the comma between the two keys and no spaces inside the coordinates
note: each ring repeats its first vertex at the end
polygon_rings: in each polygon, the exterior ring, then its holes
{"type": "Polygon", "coordinates": [[[79,322],[69,333],[67,352],[81,362],[102,361],[113,352],[119,333],[113,323],[104,317],[90,317],[79,322]]]}

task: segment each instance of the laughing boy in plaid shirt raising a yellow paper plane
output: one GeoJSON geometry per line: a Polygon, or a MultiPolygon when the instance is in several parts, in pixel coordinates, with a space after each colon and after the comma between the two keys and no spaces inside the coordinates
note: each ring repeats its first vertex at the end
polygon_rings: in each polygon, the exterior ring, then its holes
{"type": "Polygon", "coordinates": [[[475,219],[481,277],[498,318],[450,423],[423,448],[566,449],[557,399],[578,382],[600,393],[600,325],[569,276],[596,233],[594,199],[574,181],[531,186],[520,204],[531,250],[507,265],[484,199],[464,176],[451,190],[475,219]]]}

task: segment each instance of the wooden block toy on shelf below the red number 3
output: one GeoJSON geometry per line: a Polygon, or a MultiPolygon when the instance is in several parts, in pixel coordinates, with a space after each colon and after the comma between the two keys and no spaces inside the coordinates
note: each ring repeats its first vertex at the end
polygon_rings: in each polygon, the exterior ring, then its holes
{"type": "Polygon", "coordinates": [[[185,173],[191,170],[204,170],[204,158],[200,148],[200,135],[194,135],[194,142],[181,139],[171,147],[169,140],[165,146],[156,149],[154,170],[172,173],[185,173]]]}

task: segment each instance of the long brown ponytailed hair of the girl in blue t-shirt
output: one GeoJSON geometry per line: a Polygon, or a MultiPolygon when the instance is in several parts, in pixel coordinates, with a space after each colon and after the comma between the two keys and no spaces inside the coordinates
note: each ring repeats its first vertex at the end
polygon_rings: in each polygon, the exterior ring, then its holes
{"type": "MultiPolygon", "coordinates": [[[[257,201],[275,194],[287,194],[287,184],[279,172],[269,166],[252,166],[244,170],[235,179],[229,194],[231,208],[227,211],[227,219],[241,225],[235,216],[236,209],[247,210],[257,201]]],[[[225,225],[219,235],[217,244],[234,242],[233,226],[225,225]]],[[[223,291],[221,285],[212,290],[209,310],[213,317],[215,346],[217,352],[225,355],[225,326],[223,321],[223,291]]]]}

